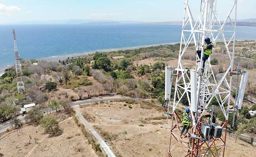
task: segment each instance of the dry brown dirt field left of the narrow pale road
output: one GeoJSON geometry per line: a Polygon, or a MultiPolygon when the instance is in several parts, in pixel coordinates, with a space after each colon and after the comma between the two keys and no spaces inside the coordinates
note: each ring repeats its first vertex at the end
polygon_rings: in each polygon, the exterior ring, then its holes
{"type": "Polygon", "coordinates": [[[25,126],[0,141],[4,157],[97,157],[88,140],[70,117],[60,123],[62,135],[49,138],[40,126],[25,126]],[[30,138],[31,137],[31,138],[30,138]]]}

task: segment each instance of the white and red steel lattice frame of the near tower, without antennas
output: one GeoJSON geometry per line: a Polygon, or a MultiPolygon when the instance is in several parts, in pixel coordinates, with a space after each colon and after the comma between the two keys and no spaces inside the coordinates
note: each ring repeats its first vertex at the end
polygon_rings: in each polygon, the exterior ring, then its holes
{"type": "MultiPolygon", "coordinates": [[[[234,62],[234,50],[235,50],[235,37],[236,37],[236,12],[237,12],[237,0],[234,0],[232,7],[224,20],[221,22],[217,15],[217,0],[202,0],[200,7],[200,14],[196,20],[191,13],[189,8],[189,0],[185,0],[184,7],[184,18],[182,25],[182,35],[180,40],[180,52],[178,58],[178,67],[177,67],[177,77],[175,83],[175,93],[173,101],[173,114],[171,120],[171,139],[174,137],[176,143],[171,143],[169,148],[169,157],[177,156],[175,155],[175,147],[181,144],[182,147],[187,148],[188,152],[184,154],[185,157],[204,157],[208,156],[210,153],[215,157],[217,151],[217,156],[223,155],[226,145],[226,133],[222,135],[221,138],[211,138],[208,141],[202,139],[191,139],[191,134],[200,136],[201,127],[203,123],[202,116],[206,111],[208,111],[211,106],[210,103],[213,99],[217,100],[218,106],[221,108],[223,115],[225,117],[225,122],[221,124],[223,128],[226,128],[228,125],[228,113],[230,108],[230,95],[232,87],[232,75],[228,78],[229,74],[233,71],[233,62],[234,62]],[[234,21],[231,18],[231,15],[234,14],[234,21]],[[232,30],[226,30],[227,24],[231,25],[232,30]],[[226,40],[227,33],[232,34],[229,40],[226,40]],[[211,41],[223,42],[226,47],[226,52],[230,60],[230,65],[225,71],[223,77],[217,81],[213,73],[212,66],[210,64],[211,57],[205,63],[204,70],[202,69],[202,57],[203,50],[202,45],[204,45],[204,38],[209,37],[211,41]],[[193,119],[193,128],[183,136],[180,135],[181,127],[181,115],[176,113],[176,108],[180,104],[181,100],[184,97],[187,98],[189,106],[191,108],[190,100],[190,77],[189,71],[186,69],[182,63],[182,57],[187,53],[188,47],[190,44],[195,45],[196,50],[202,50],[201,58],[197,56],[196,62],[196,71],[197,71],[197,105],[198,108],[203,108],[197,112],[191,111],[191,117],[193,119]],[[228,47],[232,44],[232,50],[228,47]],[[229,79],[229,81],[228,81],[229,79]],[[226,86],[222,86],[222,85],[226,86]],[[227,109],[224,108],[224,104],[227,104],[227,109]],[[214,155],[215,154],[215,155],[214,155]]],[[[192,2],[192,1],[191,1],[192,2]]],[[[219,1],[221,3],[221,1],[219,1]]],[[[184,153],[184,151],[182,151],[184,153]]],[[[183,156],[183,155],[180,155],[183,156]]]]}

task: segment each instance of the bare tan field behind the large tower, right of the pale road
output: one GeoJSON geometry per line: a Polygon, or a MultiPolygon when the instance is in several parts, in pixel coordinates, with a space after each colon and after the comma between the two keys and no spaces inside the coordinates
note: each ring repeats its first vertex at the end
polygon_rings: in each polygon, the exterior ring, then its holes
{"type": "MultiPolygon", "coordinates": [[[[125,102],[91,104],[85,107],[85,118],[111,145],[117,157],[166,157],[170,121],[160,118],[163,117],[163,110],[147,107],[143,102],[130,104],[132,108],[128,105],[125,102]]],[[[84,113],[84,108],[80,110],[84,113]]],[[[175,156],[182,153],[186,153],[182,152],[182,146],[175,148],[175,156]]],[[[246,142],[237,140],[235,143],[235,138],[228,136],[225,156],[233,157],[234,154],[236,157],[252,157],[256,150],[246,142]]]]}

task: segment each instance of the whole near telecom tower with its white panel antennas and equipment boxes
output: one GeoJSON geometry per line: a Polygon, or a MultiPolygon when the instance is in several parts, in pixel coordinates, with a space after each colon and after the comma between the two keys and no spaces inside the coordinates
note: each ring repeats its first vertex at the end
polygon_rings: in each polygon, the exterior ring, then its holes
{"type": "MultiPolygon", "coordinates": [[[[189,1],[185,0],[182,34],[180,40],[180,51],[178,58],[177,72],[174,74],[173,67],[165,69],[165,100],[168,102],[168,117],[171,116],[171,138],[168,157],[224,157],[226,146],[226,133],[228,126],[228,114],[235,113],[236,109],[241,109],[243,94],[247,82],[248,71],[243,71],[235,110],[230,110],[230,96],[232,90],[232,75],[234,63],[234,51],[236,40],[236,16],[237,0],[234,0],[228,15],[224,21],[219,20],[217,15],[217,0],[201,0],[201,6],[198,7],[200,13],[195,19],[189,7],[189,1]],[[234,20],[232,20],[234,19],[234,20]],[[227,27],[228,26],[228,27],[227,27]],[[227,35],[230,37],[227,40],[227,35]],[[205,62],[203,70],[202,57],[204,50],[204,39],[208,37],[215,43],[223,43],[229,58],[229,66],[216,79],[210,64],[211,57],[205,62]],[[189,53],[188,47],[193,44],[196,50],[202,50],[201,58],[197,56],[195,70],[188,70],[182,62],[184,54],[189,53]],[[171,84],[176,75],[175,92],[173,104],[171,106],[171,84]],[[240,91],[241,90],[241,91],[240,91]],[[176,112],[181,101],[186,98],[192,117],[191,129],[186,135],[180,133],[182,130],[182,116],[176,112]],[[222,124],[213,124],[203,121],[206,112],[213,115],[214,104],[211,101],[215,99],[217,105],[225,117],[222,124]],[[226,107],[225,107],[226,106],[226,107]],[[171,108],[172,107],[172,108],[171,108]],[[186,151],[181,150],[186,149],[186,151]],[[180,154],[180,155],[177,155],[180,154]]],[[[218,1],[221,3],[222,1],[218,1]]],[[[223,18],[223,16],[222,16],[223,18]]],[[[240,74],[241,75],[241,74],[240,74]]],[[[215,106],[215,107],[216,107],[215,106]]],[[[212,119],[212,117],[211,117],[212,119]]]]}

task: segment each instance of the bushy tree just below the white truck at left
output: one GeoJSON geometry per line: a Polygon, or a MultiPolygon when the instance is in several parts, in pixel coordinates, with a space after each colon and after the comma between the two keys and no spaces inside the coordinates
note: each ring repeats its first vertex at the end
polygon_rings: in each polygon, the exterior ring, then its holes
{"type": "Polygon", "coordinates": [[[32,110],[28,111],[26,114],[25,120],[26,122],[30,122],[30,124],[38,125],[40,120],[43,118],[43,113],[39,107],[34,107],[32,110]]]}

